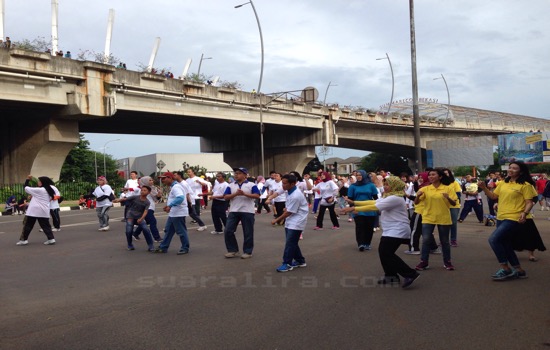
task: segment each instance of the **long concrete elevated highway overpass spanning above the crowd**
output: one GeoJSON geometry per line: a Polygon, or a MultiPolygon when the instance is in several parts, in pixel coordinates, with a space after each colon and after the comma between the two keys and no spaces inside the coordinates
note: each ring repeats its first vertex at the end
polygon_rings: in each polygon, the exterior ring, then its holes
{"type": "MultiPolygon", "coordinates": [[[[302,170],[316,145],[414,156],[413,122],[403,109],[348,110],[12,49],[0,50],[0,178],[57,179],[79,132],[199,136],[202,152],[222,152],[228,164],[258,174],[260,103],[268,169],[302,170]]],[[[422,107],[423,148],[440,138],[550,130],[545,119],[422,107]]]]}

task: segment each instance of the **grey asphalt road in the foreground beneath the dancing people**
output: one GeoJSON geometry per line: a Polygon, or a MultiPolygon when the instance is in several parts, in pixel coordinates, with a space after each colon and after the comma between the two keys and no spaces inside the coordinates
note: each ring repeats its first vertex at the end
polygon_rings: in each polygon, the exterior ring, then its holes
{"type": "MultiPolygon", "coordinates": [[[[550,247],[549,213],[535,221],[550,247]]],[[[550,349],[549,253],[538,262],[519,253],[529,278],[494,282],[492,228],[472,216],[452,248],[456,270],[432,255],[407,290],[376,284],[377,251],[359,252],[344,220],[313,231],[311,215],[300,242],[308,266],[277,273],[284,229],[269,215],[256,216],[248,260],[223,257],[209,211],[207,231],[190,225],[182,256],[178,239],[168,254],[144,241],[127,251],[121,217],[112,209],[111,231],[98,232],[94,211],[65,211],[56,245],[43,245],[37,226],[23,247],[23,217],[0,217],[1,349],[550,349]]]]}

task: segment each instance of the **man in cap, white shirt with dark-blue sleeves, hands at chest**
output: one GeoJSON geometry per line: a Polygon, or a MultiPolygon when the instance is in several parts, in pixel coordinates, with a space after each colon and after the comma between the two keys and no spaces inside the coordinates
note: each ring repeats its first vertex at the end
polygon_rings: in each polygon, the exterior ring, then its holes
{"type": "Polygon", "coordinates": [[[233,168],[235,182],[229,184],[225,190],[224,199],[231,201],[227,225],[224,230],[226,258],[239,256],[239,244],[235,238],[237,225],[241,222],[243,227],[244,242],[241,259],[252,257],[254,249],[254,202],[260,198],[260,191],[254,182],[247,180],[246,168],[233,168]]]}

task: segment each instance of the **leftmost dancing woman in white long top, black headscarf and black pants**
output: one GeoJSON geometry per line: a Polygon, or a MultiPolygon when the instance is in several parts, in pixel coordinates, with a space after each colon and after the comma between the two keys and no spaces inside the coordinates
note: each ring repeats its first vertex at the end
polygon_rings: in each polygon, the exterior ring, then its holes
{"type": "Polygon", "coordinates": [[[16,245],[29,244],[29,235],[36,221],[38,221],[38,224],[48,238],[44,244],[55,244],[55,237],[53,236],[52,226],[50,225],[50,201],[59,197],[56,198],[55,191],[52,188],[53,181],[49,177],[39,177],[38,187],[30,187],[29,184],[31,180],[32,175],[29,175],[25,181],[25,192],[30,194],[32,199],[25,213],[25,218],[23,219],[23,232],[16,245]]]}

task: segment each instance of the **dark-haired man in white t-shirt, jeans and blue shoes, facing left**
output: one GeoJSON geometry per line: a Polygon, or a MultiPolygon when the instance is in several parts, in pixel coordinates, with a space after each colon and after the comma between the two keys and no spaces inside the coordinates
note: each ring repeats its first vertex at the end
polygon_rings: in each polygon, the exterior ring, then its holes
{"type": "Polygon", "coordinates": [[[286,210],[271,223],[273,225],[285,221],[286,243],[283,253],[283,263],[277,268],[277,272],[292,271],[295,268],[306,267],[306,259],[298,246],[300,235],[306,228],[308,205],[302,192],[296,187],[297,178],[294,175],[283,175],[283,189],[288,193],[286,197],[286,210]]]}

